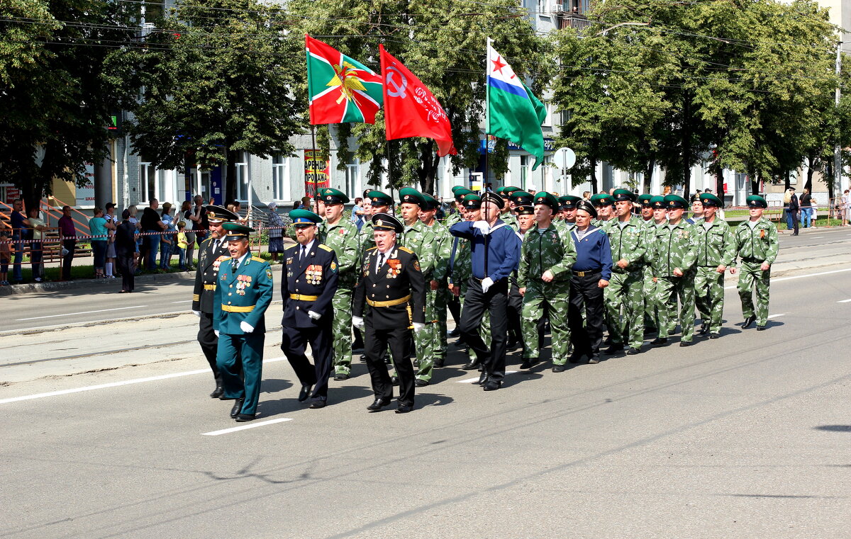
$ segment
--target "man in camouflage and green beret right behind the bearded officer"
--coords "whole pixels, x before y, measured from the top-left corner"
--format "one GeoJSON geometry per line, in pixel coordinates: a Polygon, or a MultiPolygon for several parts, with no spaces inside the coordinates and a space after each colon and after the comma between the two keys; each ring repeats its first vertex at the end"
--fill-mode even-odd
{"type": "Polygon", "coordinates": [[[319,241],[334,249],[337,255],[338,286],[331,304],[334,306],[332,335],[334,338],[334,380],[351,376],[351,292],[357,284],[357,255],[360,249],[357,226],[343,218],[349,197],[341,190],[322,190],[325,221],[320,227],[319,241]]]}

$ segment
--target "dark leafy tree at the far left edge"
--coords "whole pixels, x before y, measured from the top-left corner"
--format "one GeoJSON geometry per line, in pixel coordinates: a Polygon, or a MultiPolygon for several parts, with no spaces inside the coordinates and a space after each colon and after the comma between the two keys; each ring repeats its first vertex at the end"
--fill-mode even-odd
{"type": "Polygon", "coordinates": [[[54,179],[84,184],[107,154],[107,125],[122,88],[106,71],[128,39],[133,4],[8,0],[0,7],[0,173],[28,207],[54,179]]]}

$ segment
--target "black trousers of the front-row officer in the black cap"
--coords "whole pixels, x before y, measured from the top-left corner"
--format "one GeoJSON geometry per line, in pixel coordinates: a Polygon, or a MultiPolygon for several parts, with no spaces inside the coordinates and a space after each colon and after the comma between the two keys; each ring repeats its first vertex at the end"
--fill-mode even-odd
{"type": "Polygon", "coordinates": [[[414,406],[414,365],[411,363],[408,348],[411,330],[408,327],[375,329],[368,315],[364,323],[366,325],[364,351],[367,354],[367,369],[369,377],[372,378],[375,398],[393,398],[393,382],[384,362],[385,350],[390,345],[390,355],[393,365],[396,366],[396,375],[399,377],[399,404],[414,406]]]}

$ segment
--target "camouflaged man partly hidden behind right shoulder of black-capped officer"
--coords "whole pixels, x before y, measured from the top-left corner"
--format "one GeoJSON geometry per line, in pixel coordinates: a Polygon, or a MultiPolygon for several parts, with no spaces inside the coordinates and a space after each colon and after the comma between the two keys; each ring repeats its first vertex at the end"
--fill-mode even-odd
{"type": "Polygon", "coordinates": [[[433,333],[437,331],[437,315],[434,312],[434,297],[431,292],[431,281],[434,278],[434,264],[437,259],[437,238],[426,224],[420,221],[420,209],[426,206],[426,199],[420,191],[412,187],[399,190],[402,199],[401,213],[404,225],[401,241],[398,245],[407,247],[417,255],[420,261],[420,271],[426,279],[426,327],[421,332],[414,332],[414,349],[416,350],[417,372],[414,384],[424,387],[431,382],[431,372],[434,369],[433,333]]]}

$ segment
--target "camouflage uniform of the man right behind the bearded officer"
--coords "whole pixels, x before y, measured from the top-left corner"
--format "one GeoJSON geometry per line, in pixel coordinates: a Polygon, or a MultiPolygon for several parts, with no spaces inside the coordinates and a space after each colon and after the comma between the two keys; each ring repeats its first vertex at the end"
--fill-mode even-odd
{"type": "MultiPolygon", "coordinates": [[[[371,223],[370,223],[371,224],[371,223]]],[[[318,232],[319,241],[334,249],[337,255],[337,292],[331,304],[334,307],[334,374],[351,374],[351,293],[357,284],[357,261],[360,260],[357,226],[345,217],[337,224],[323,221],[318,232]]]]}

